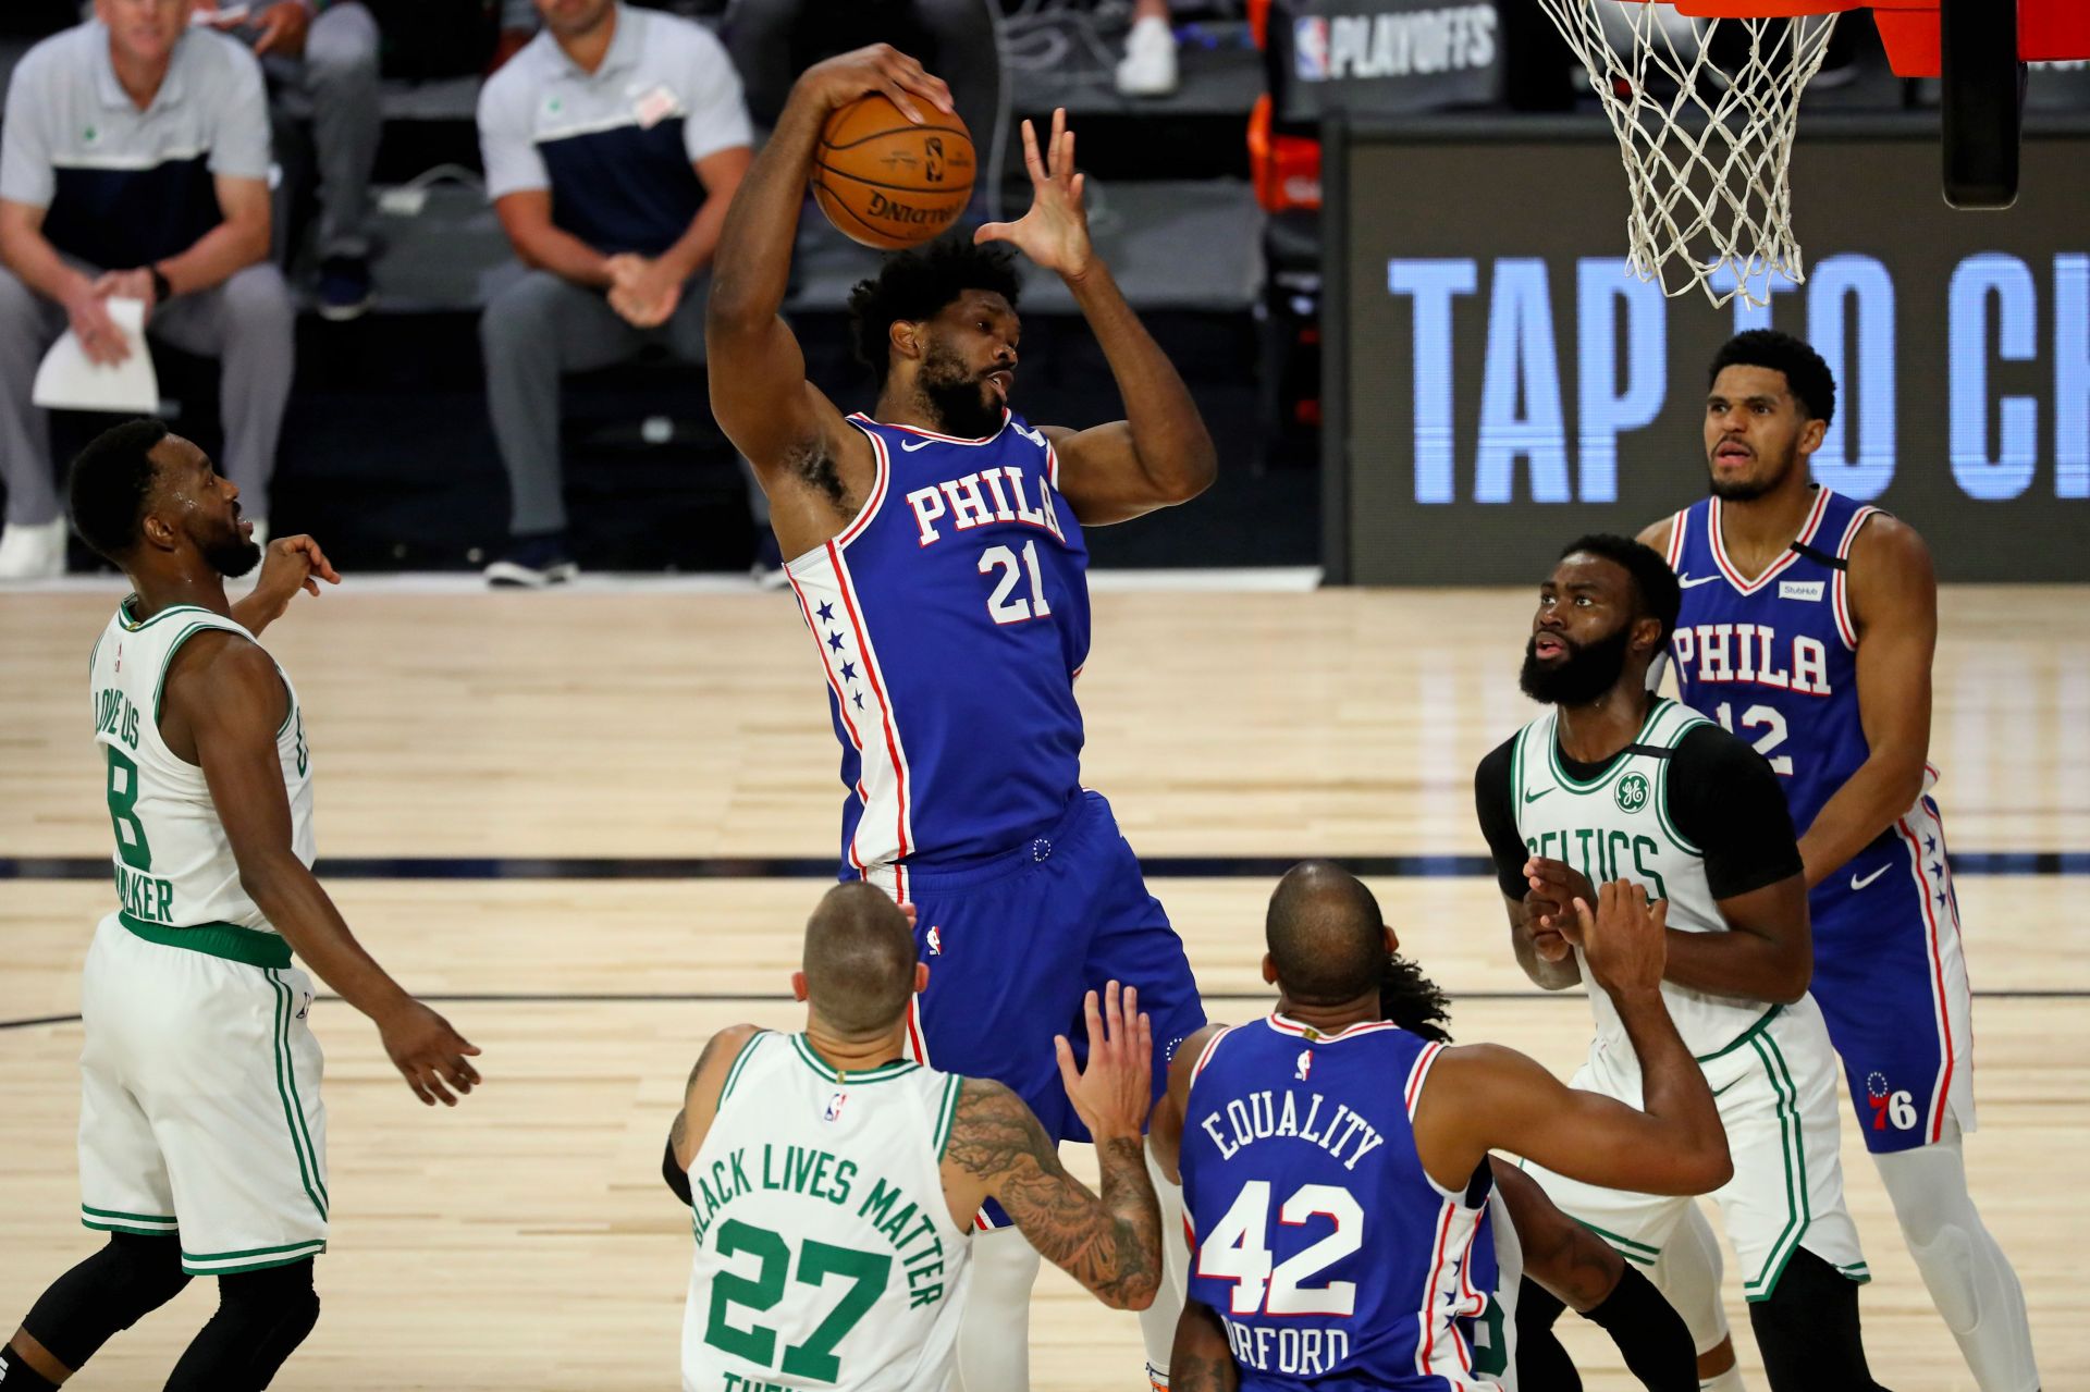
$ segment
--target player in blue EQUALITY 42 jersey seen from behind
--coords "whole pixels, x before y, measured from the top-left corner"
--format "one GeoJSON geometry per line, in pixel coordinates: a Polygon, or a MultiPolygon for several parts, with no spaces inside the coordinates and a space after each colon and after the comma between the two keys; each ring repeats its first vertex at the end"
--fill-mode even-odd
{"type": "MultiPolygon", "coordinates": [[[[1492,1147],[1657,1193],[1726,1183],[1712,1089],[1662,999],[1666,907],[1611,882],[1576,915],[1626,1020],[1645,1110],[1563,1087],[1511,1049],[1446,1047],[1386,1020],[1398,943],[1377,901],[1327,863],[1283,878],[1262,959],[1277,1010],[1208,1026],[1168,1078],[1191,1227],[1177,1390],[1505,1386],[1492,1147]]],[[[1695,1382],[1680,1329],[1676,1342],[1672,1363],[1695,1382]]]]}

